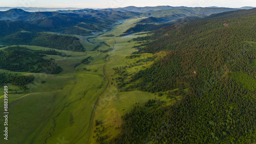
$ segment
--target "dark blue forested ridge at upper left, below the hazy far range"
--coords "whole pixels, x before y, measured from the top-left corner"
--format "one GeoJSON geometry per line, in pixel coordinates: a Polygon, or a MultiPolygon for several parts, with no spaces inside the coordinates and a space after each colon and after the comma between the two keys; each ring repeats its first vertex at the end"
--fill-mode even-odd
{"type": "MultiPolygon", "coordinates": [[[[59,32],[73,28],[80,23],[90,23],[95,26],[109,29],[115,20],[106,16],[104,18],[93,17],[92,15],[59,14],[56,12],[36,12],[23,16],[15,21],[1,20],[2,31],[27,30],[27,31],[53,31],[59,32]],[[103,20],[103,21],[102,21],[103,20]],[[5,26],[6,25],[6,26],[5,26]],[[8,28],[8,29],[7,29],[8,28]],[[29,30],[30,29],[30,30],[29,30]]],[[[82,31],[82,30],[81,30],[82,31]]]]}

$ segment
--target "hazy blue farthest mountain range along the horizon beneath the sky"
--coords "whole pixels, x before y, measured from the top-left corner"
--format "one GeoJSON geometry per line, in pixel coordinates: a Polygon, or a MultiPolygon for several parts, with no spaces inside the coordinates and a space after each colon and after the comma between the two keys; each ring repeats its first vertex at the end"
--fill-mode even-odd
{"type": "MultiPolygon", "coordinates": [[[[243,9],[248,9],[244,7],[243,9]]],[[[100,19],[126,19],[131,17],[164,17],[163,19],[173,20],[185,16],[208,16],[211,14],[234,11],[239,9],[233,8],[200,8],[200,7],[125,7],[115,9],[82,9],[82,10],[58,10],[47,12],[28,12],[23,9],[10,9],[0,11],[0,20],[37,20],[56,16],[68,16],[76,18],[100,18],[100,19]]]]}

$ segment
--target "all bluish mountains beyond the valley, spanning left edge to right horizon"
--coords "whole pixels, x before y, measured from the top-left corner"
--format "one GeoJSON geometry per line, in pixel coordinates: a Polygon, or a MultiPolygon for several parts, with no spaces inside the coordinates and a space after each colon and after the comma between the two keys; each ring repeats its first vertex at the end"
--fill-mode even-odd
{"type": "MultiPolygon", "coordinates": [[[[6,8],[6,7],[5,7],[6,8]]],[[[241,9],[249,9],[243,7],[241,9]]],[[[25,9],[25,8],[24,8],[25,9]]],[[[31,10],[30,8],[26,8],[31,10]]],[[[33,8],[36,10],[36,8],[33,8]]],[[[42,8],[44,9],[44,8],[42,8]]],[[[1,8],[0,8],[1,10],[1,8]]],[[[47,10],[47,9],[44,9],[47,10]]],[[[54,9],[51,9],[54,10],[54,9]]],[[[236,11],[233,8],[201,7],[125,7],[116,9],[59,9],[57,11],[29,12],[23,8],[0,11],[0,43],[11,44],[11,39],[39,36],[41,32],[55,32],[88,36],[95,32],[110,30],[120,20],[145,17],[135,29],[154,30],[154,23],[168,22],[180,18],[197,19],[212,14],[236,11]],[[144,25],[152,23],[153,25],[144,25]],[[146,27],[145,27],[146,26],[146,27]],[[24,33],[24,32],[32,32],[24,33]]],[[[135,30],[133,30],[135,31],[135,30]]],[[[16,40],[16,41],[17,41],[16,40]]],[[[24,43],[26,44],[26,43],[24,43]]]]}

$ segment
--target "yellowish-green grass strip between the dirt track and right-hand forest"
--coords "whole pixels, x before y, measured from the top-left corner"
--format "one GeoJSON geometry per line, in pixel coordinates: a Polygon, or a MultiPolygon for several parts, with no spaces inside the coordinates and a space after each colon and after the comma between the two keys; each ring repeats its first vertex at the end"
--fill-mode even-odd
{"type": "MultiPolygon", "coordinates": [[[[137,19],[131,19],[126,20],[122,23],[122,25],[116,26],[113,28],[112,31],[106,32],[104,35],[113,34],[113,35],[120,35],[122,32],[126,31],[125,29],[129,29],[130,27],[134,26],[134,22],[137,21],[137,19]]],[[[111,53],[110,61],[108,64],[106,64],[106,73],[108,73],[109,79],[118,77],[117,75],[114,75],[115,70],[113,68],[120,67],[120,66],[129,66],[129,63],[134,63],[139,59],[145,59],[147,57],[152,57],[153,54],[142,54],[139,58],[134,59],[127,59],[126,56],[130,56],[134,51],[137,51],[136,49],[132,48],[134,45],[134,42],[127,42],[131,40],[134,37],[137,37],[138,35],[128,35],[123,37],[99,37],[99,40],[103,40],[109,45],[114,45],[114,51],[111,53]],[[115,44],[116,41],[116,44],[115,44]],[[111,77],[111,75],[113,77],[111,77]]],[[[156,56],[159,57],[165,55],[164,53],[158,53],[156,56]]],[[[150,66],[153,61],[142,62],[143,65],[134,66],[131,68],[126,68],[126,71],[128,73],[136,73],[137,71],[144,69],[148,66],[150,66]]],[[[114,82],[114,81],[113,81],[114,82]]],[[[111,81],[110,81],[111,83],[111,81]]],[[[91,143],[95,143],[96,139],[96,133],[99,134],[99,136],[108,135],[108,140],[115,137],[118,133],[120,133],[119,127],[123,123],[121,116],[124,115],[127,112],[130,112],[130,110],[134,106],[144,106],[145,102],[148,101],[148,99],[155,99],[158,101],[158,99],[165,101],[166,105],[171,105],[174,103],[175,99],[166,99],[166,95],[162,95],[162,97],[158,97],[155,93],[150,92],[143,92],[139,90],[134,91],[126,91],[126,92],[120,92],[115,86],[109,85],[108,89],[105,90],[105,92],[101,95],[97,107],[97,114],[94,115],[94,121],[92,126],[92,134],[90,136],[91,143]],[[137,103],[137,105],[136,105],[137,103]],[[139,104],[138,104],[139,103],[139,104]],[[102,126],[99,125],[95,127],[95,119],[102,122],[102,126]],[[103,130],[103,127],[105,128],[103,130]],[[97,132],[94,133],[93,131],[96,130],[97,132]],[[101,132],[99,132],[101,130],[101,132]],[[103,131],[103,132],[102,132],[103,131]],[[93,138],[94,137],[94,138],[93,138]]],[[[177,96],[177,99],[180,97],[177,96]]]]}

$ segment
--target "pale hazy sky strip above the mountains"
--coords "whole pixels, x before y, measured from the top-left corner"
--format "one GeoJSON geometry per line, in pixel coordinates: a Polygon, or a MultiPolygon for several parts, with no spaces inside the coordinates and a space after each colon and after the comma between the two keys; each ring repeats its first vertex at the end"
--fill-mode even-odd
{"type": "Polygon", "coordinates": [[[256,7],[256,0],[0,0],[0,7],[118,8],[126,6],[256,7]]]}

